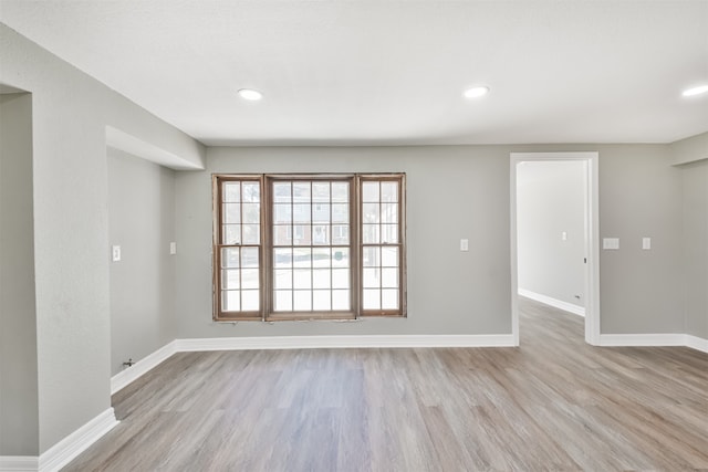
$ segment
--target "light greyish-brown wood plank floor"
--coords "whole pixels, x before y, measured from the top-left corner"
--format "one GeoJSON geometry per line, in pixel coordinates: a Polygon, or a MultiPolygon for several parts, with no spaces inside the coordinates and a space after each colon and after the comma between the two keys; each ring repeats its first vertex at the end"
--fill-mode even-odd
{"type": "Polygon", "coordinates": [[[708,470],[707,354],[520,303],[519,348],[177,354],[64,470],[708,470]]]}

